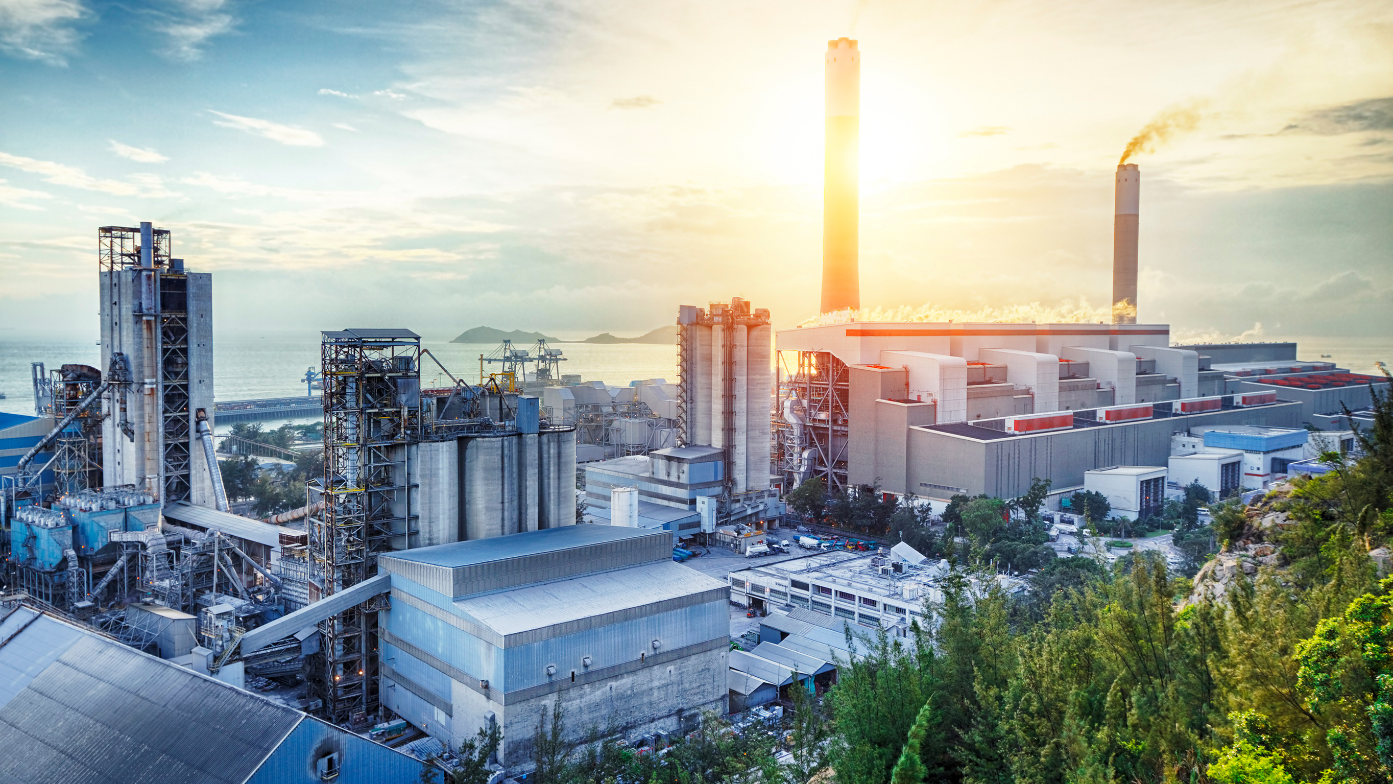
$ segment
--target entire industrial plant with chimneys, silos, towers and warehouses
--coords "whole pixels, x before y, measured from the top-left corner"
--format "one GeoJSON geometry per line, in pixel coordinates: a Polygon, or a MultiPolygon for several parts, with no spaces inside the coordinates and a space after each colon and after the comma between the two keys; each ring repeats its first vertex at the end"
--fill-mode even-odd
{"type": "Polygon", "coordinates": [[[582,383],[546,341],[506,341],[472,383],[411,329],[348,326],[319,333],[311,395],[220,408],[213,276],[167,228],[98,228],[100,366],[35,363],[35,416],[0,414],[0,742],[84,781],[224,765],[228,781],[403,781],[429,755],[387,735],[435,753],[492,727],[499,784],[532,769],[553,706],[568,748],[653,742],[825,689],[857,654],[848,629],[925,620],[954,567],[903,543],[722,578],[683,563],[770,551],[805,482],[942,512],[1043,479],[1046,510],[1095,490],[1139,519],[1187,485],[1319,472],[1321,437],[1347,448],[1385,379],[1138,320],[1137,164],[1113,182],[1112,323],[861,320],[859,72],[858,42],[827,42],[830,316],[776,329],[740,297],[674,304],[676,383],[582,383]],[[450,383],[426,386],[435,369],[450,383]],[[322,415],[304,505],[234,514],[220,412],[322,415]],[[775,611],[752,650],[731,650],[733,604],[775,611]],[[302,689],[273,702],[252,681],[302,689]]]}

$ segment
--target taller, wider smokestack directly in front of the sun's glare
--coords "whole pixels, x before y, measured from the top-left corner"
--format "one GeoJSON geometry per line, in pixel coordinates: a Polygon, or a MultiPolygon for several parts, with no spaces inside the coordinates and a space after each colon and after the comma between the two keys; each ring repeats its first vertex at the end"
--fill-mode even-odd
{"type": "Polygon", "coordinates": [[[861,306],[859,235],[861,52],[827,42],[826,150],[822,187],[822,309],[861,306]]]}

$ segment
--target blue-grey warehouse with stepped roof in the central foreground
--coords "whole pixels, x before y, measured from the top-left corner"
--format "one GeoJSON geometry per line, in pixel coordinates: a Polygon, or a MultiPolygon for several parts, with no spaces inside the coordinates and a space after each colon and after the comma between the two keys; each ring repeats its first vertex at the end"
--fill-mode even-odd
{"type": "Polygon", "coordinates": [[[570,525],[379,556],[383,705],[451,745],[497,723],[515,771],[556,700],[571,745],[724,713],[730,589],[671,547],[666,531],[570,525]]]}

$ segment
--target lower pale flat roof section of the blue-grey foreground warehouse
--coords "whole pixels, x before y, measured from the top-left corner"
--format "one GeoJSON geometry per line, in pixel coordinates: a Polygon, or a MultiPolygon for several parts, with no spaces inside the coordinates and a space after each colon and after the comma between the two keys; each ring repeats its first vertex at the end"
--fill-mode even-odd
{"type": "Polygon", "coordinates": [[[507,636],[729,586],[673,561],[461,599],[467,617],[507,636]]]}

